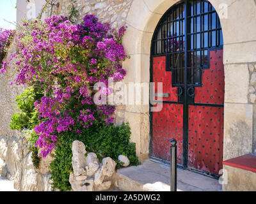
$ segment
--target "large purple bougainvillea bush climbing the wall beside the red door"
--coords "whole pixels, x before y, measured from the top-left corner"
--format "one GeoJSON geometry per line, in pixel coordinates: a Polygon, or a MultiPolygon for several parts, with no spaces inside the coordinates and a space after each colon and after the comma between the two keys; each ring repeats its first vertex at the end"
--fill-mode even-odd
{"type": "Polygon", "coordinates": [[[82,134],[95,122],[113,122],[114,106],[96,106],[92,87],[96,82],[116,82],[125,76],[120,62],[127,57],[122,46],[125,28],[118,31],[86,15],[74,25],[67,17],[52,16],[24,22],[17,32],[17,52],[3,63],[17,70],[15,84],[40,85],[44,96],[35,102],[39,122],[36,145],[43,157],[56,147],[60,133],[82,134]],[[74,127],[80,127],[79,129],[74,127]]]}

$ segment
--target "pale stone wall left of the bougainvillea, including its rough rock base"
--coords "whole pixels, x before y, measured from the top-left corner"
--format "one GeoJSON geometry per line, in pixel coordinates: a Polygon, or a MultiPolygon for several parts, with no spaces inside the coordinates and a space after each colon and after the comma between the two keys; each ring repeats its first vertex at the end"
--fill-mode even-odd
{"type": "MultiPolygon", "coordinates": [[[[15,51],[12,45],[6,60],[15,51]]],[[[15,80],[15,71],[7,69],[0,75],[0,175],[14,181],[15,189],[19,191],[51,191],[49,182],[49,162],[51,157],[41,159],[40,169],[33,166],[28,149],[28,140],[19,131],[9,128],[12,114],[18,112],[15,97],[19,96],[25,87],[9,85],[15,80]]]]}

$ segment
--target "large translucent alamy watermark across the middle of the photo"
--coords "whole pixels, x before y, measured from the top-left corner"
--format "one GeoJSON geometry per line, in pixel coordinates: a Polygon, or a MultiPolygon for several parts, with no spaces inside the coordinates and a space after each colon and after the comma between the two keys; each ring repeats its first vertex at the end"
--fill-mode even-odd
{"type": "Polygon", "coordinates": [[[93,86],[96,94],[93,101],[96,105],[152,105],[151,112],[163,108],[163,82],[142,82],[125,84],[108,79],[108,85],[98,82],[93,86]],[[157,94],[156,94],[157,91],[157,94]]]}

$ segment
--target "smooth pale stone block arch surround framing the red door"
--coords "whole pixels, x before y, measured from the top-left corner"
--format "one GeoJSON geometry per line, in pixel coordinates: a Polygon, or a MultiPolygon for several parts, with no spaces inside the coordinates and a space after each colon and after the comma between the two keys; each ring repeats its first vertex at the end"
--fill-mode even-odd
{"type": "MultiPolygon", "coordinates": [[[[131,56],[131,59],[123,63],[124,68],[127,69],[125,83],[149,82],[152,35],[163,14],[177,2],[179,0],[134,0],[132,2],[126,20],[127,32],[124,36],[125,51],[131,56]]],[[[254,15],[256,6],[253,0],[246,2],[209,0],[209,2],[214,6],[220,17],[223,31],[226,91],[223,158],[225,160],[252,152],[253,106],[252,101],[250,102],[248,99],[249,80],[252,73],[248,69],[248,63],[256,61],[256,29],[253,27],[256,24],[254,15]],[[234,110],[238,111],[234,113],[234,110]],[[248,128],[239,130],[237,133],[230,131],[230,128],[241,120],[246,121],[249,131],[248,128]],[[244,148],[238,152],[232,152],[231,149],[239,149],[238,147],[241,145],[241,140],[235,141],[234,139],[237,137],[233,135],[240,134],[243,131],[246,133],[247,141],[244,143],[244,148]]],[[[127,105],[122,112],[124,120],[130,123],[131,140],[136,142],[137,154],[141,161],[148,156],[148,110],[148,105],[127,105]],[[138,119],[138,122],[134,122],[134,117],[138,119]]],[[[241,139],[244,140],[244,138],[241,139]]]]}

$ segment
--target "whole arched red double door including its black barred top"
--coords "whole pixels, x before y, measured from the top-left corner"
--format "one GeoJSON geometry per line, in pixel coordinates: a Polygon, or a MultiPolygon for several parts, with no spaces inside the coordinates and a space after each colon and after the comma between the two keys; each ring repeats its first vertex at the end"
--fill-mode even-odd
{"type": "Polygon", "coordinates": [[[218,176],[225,79],[221,24],[211,3],[184,0],[166,11],[150,58],[150,82],[163,82],[163,109],[150,117],[150,157],[170,161],[175,138],[180,166],[218,176]]]}

